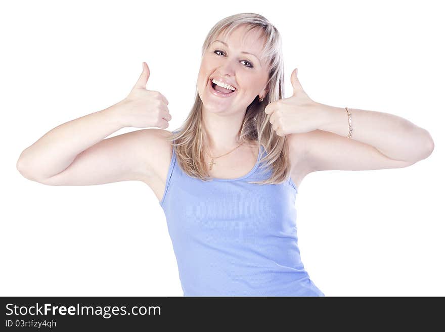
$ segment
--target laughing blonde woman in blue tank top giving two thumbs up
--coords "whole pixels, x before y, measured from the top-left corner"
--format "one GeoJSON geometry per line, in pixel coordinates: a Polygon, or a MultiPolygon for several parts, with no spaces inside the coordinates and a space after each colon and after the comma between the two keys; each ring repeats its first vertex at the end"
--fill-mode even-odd
{"type": "Polygon", "coordinates": [[[165,130],[168,101],[146,89],[143,63],[124,100],[52,129],[17,168],[48,185],[147,183],[165,212],[185,296],[324,296],[297,246],[304,176],[406,167],[434,144],[400,117],[314,102],[296,70],[284,99],[283,68],[268,20],[227,17],[204,41],[195,103],[179,130],[165,130]],[[123,127],[160,129],[104,139],[123,127]]]}

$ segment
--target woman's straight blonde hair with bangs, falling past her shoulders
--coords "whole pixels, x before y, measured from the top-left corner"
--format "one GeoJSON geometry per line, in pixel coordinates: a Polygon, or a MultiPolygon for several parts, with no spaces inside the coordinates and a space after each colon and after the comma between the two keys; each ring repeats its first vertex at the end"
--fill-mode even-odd
{"type": "MultiPolygon", "coordinates": [[[[258,97],[247,107],[241,128],[239,141],[256,142],[257,148],[264,147],[266,156],[261,156],[262,167],[272,170],[270,178],[263,181],[252,181],[256,184],[277,184],[290,176],[289,148],[286,137],[278,136],[269,122],[270,115],[264,108],[271,102],[284,98],[284,64],[281,36],[277,28],[265,17],[254,13],[241,13],[226,17],[217,22],[207,34],[202,45],[202,56],[211,42],[219,34],[230,35],[239,26],[247,26],[248,31],[261,29],[265,39],[261,62],[267,64],[269,80],[266,84],[266,95],[259,102],[258,97]]],[[[211,180],[204,160],[206,133],[202,127],[202,101],[196,90],[195,103],[183,125],[174,130],[167,139],[175,147],[177,163],[189,176],[203,181],[211,180]]]]}

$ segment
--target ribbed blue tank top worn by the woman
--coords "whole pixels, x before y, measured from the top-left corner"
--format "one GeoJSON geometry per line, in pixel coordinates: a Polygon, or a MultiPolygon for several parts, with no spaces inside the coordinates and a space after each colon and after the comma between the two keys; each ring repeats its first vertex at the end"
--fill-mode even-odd
{"type": "Polygon", "coordinates": [[[203,181],[184,173],[175,147],[159,203],[184,296],[325,296],[310,280],[297,246],[292,179],[255,166],[235,179],[203,181]]]}

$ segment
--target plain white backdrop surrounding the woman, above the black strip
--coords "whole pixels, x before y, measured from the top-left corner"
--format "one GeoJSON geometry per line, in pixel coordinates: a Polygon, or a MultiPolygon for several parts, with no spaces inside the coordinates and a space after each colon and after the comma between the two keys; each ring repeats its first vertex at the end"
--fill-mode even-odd
{"type": "Polygon", "coordinates": [[[179,127],[206,34],[224,17],[253,12],[283,37],[286,98],[297,67],[311,99],[398,115],[435,143],[407,168],[305,177],[297,227],[311,279],[327,296],[445,296],[439,4],[2,3],[0,295],[183,295],[165,216],[146,184],[48,186],[24,178],[16,162],[52,128],[126,97],[143,61],[147,88],[169,101],[167,129],[179,127]]]}

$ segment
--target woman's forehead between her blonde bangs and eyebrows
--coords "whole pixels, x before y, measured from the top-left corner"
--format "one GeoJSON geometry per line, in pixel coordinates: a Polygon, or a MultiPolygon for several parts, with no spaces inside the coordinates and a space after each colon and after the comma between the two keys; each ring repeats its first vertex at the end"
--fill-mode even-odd
{"type": "Polygon", "coordinates": [[[261,54],[264,49],[264,36],[260,29],[254,28],[247,31],[245,26],[238,26],[229,35],[227,31],[220,32],[213,40],[222,40],[229,44],[231,48],[239,49],[246,52],[261,54]]]}

